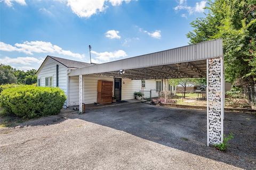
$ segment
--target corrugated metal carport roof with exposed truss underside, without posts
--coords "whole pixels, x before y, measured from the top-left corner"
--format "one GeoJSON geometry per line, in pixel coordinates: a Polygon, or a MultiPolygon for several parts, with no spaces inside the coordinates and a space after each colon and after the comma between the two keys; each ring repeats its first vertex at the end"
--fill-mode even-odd
{"type": "Polygon", "coordinates": [[[223,56],[222,39],[71,70],[69,76],[108,75],[130,79],[206,77],[206,59],[223,56]],[[119,70],[125,70],[119,74],[119,70]]]}

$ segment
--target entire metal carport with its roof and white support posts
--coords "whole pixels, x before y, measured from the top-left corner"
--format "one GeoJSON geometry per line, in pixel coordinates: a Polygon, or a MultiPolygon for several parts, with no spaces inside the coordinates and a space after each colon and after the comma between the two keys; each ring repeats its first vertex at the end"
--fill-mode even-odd
{"type": "Polygon", "coordinates": [[[83,75],[91,74],[132,80],[207,77],[207,145],[222,142],[225,81],[221,39],[71,70],[70,77],[79,75],[81,112],[83,75]]]}

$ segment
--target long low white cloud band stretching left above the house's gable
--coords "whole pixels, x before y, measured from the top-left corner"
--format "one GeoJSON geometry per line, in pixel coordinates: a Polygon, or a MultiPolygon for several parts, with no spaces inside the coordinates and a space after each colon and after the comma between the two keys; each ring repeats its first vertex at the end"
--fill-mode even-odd
{"type": "Polygon", "coordinates": [[[71,56],[75,58],[84,58],[84,54],[73,53],[70,50],[63,50],[57,45],[45,41],[25,41],[22,44],[16,43],[15,46],[0,42],[0,50],[7,52],[22,52],[32,55],[33,53],[51,53],[71,56]]]}

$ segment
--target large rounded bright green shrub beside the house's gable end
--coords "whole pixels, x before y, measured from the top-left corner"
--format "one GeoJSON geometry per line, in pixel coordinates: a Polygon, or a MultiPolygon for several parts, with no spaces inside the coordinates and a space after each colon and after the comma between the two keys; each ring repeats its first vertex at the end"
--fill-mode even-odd
{"type": "Polygon", "coordinates": [[[1,106],[22,118],[56,115],[65,100],[66,95],[59,88],[31,85],[5,89],[0,95],[1,106]]]}

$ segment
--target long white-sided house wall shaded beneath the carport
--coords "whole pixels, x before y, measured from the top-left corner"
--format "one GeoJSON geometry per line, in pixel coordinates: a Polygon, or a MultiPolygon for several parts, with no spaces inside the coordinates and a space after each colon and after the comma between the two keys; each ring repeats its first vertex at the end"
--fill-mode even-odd
{"type": "MultiPolygon", "coordinates": [[[[78,84],[78,76],[69,77],[69,103],[68,106],[75,106],[79,104],[79,84],[78,84]]],[[[113,77],[98,77],[93,75],[85,75],[83,77],[83,86],[84,86],[84,100],[85,104],[92,104],[97,102],[97,86],[98,80],[105,81],[114,81],[113,77]]],[[[162,80],[158,80],[162,81],[162,80]]],[[[156,80],[146,80],[145,98],[150,97],[158,97],[158,91],[156,91],[156,80]]],[[[113,83],[114,84],[114,83],[113,83]]],[[[167,80],[164,82],[163,80],[163,90],[168,90],[168,82],[167,80]],[[166,84],[166,85],[165,85],[166,84]]],[[[141,80],[131,80],[122,78],[122,100],[128,100],[134,98],[134,91],[141,91],[141,80]]],[[[113,96],[114,96],[114,86],[113,86],[113,96]]]]}

